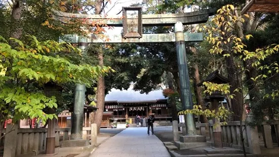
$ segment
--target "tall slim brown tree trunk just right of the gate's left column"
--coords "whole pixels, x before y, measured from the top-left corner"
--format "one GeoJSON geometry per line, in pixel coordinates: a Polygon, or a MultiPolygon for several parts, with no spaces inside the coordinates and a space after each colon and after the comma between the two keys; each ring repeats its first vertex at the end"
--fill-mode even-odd
{"type": "MultiPolygon", "coordinates": [[[[96,13],[99,14],[102,9],[102,2],[101,0],[98,0],[96,3],[96,13]]],[[[103,66],[103,52],[100,49],[99,51],[99,66],[103,66]]],[[[100,127],[103,119],[103,112],[104,112],[104,106],[105,106],[105,78],[103,76],[99,77],[98,84],[97,84],[97,104],[96,107],[98,108],[95,112],[94,116],[94,123],[97,124],[98,127],[98,133],[100,133],[100,127]]]]}

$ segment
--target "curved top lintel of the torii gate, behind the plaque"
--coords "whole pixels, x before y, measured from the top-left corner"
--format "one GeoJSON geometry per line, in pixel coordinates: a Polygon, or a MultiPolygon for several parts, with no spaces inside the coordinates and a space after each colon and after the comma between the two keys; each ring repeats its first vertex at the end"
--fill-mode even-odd
{"type": "MultiPolygon", "coordinates": [[[[104,23],[108,26],[122,27],[123,21],[117,16],[107,16],[105,18],[100,15],[87,15],[87,14],[72,14],[61,11],[54,11],[55,18],[60,21],[67,21],[72,18],[80,18],[87,20],[104,20],[104,23]]],[[[174,26],[174,24],[180,21],[183,25],[198,24],[207,22],[209,16],[214,14],[214,10],[200,10],[190,13],[180,14],[143,14],[142,15],[142,26],[174,26]]]]}

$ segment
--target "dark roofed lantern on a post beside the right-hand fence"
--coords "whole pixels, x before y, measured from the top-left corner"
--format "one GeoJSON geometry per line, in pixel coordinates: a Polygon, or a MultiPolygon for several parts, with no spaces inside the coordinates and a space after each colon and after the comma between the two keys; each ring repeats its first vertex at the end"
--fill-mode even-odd
{"type": "MultiPolygon", "coordinates": [[[[216,70],[209,74],[204,81],[201,83],[197,84],[197,86],[202,86],[204,82],[211,82],[215,84],[227,84],[229,82],[228,78],[222,76],[219,74],[219,70],[216,70]]],[[[206,87],[205,87],[206,88],[206,87]]],[[[215,113],[218,112],[219,108],[219,102],[224,101],[225,96],[222,95],[220,91],[215,91],[211,95],[207,94],[205,97],[205,101],[211,103],[211,109],[215,109],[215,113]]],[[[220,123],[218,119],[214,118],[213,119],[213,124],[218,124],[220,123]]],[[[221,135],[221,126],[217,125],[216,128],[213,127],[213,139],[214,139],[214,147],[215,148],[222,148],[223,143],[222,143],[222,135],[221,135]]]]}

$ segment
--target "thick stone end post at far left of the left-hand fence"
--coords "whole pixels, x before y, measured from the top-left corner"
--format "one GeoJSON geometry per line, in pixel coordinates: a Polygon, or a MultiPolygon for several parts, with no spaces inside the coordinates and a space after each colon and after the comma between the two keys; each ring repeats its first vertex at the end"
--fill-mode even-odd
{"type": "Polygon", "coordinates": [[[17,137],[17,130],[18,130],[18,124],[7,124],[6,133],[10,131],[11,132],[5,136],[5,144],[4,144],[5,157],[16,156],[17,138],[15,137],[17,137]]]}

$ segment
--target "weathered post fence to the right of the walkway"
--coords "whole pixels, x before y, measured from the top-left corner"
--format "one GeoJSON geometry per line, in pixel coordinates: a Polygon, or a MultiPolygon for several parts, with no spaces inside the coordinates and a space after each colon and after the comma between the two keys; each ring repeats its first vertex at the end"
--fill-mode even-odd
{"type": "MultiPolygon", "coordinates": [[[[251,118],[251,117],[250,117],[251,118]]],[[[271,135],[271,125],[275,127],[276,134],[276,145],[279,146],[279,121],[275,121],[272,124],[262,123],[260,128],[240,125],[239,121],[236,122],[228,122],[227,125],[222,125],[222,141],[223,145],[227,147],[233,147],[242,150],[242,142],[241,142],[241,129],[243,130],[244,136],[244,146],[247,152],[252,154],[261,154],[261,146],[259,141],[259,133],[258,129],[261,130],[263,136],[263,147],[273,148],[274,143],[272,142],[271,135]]],[[[209,140],[211,142],[214,141],[213,136],[213,124],[212,121],[208,124],[196,123],[196,126],[200,128],[200,134],[206,136],[206,127],[208,126],[209,130],[209,140]]],[[[179,132],[178,127],[182,127],[182,134],[186,135],[185,124],[177,124],[177,121],[173,121],[173,134],[174,141],[179,141],[179,132]]]]}

